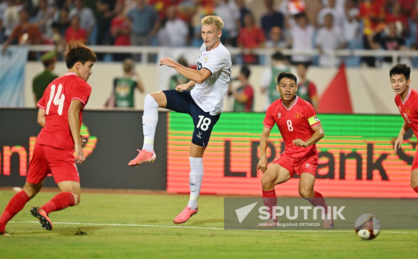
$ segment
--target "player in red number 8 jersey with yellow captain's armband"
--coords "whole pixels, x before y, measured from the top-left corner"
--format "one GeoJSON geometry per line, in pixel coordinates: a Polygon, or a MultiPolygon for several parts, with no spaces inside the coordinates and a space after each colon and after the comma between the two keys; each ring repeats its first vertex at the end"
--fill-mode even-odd
{"type": "Polygon", "coordinates": [[[260,139],[260,161],[257,168],[263,171],[261,185],[263,200],[269,208],[269,223],[277,223],[273,218],[272,207],[277,204],[275,185],[288,181],[294,174],[300,176],[299,194],[314,206],[324,208],[324,228],[333,228],[332,212],[328,211],[324,197],[314,191],[318,151],[315,143],[324,137],[321,121],[310,103],[296,95],[298,86],[296,76],[282,72],[277,77],[276,89],[280,99],[275,100],[267,109],[263,121],[264,128],[260,139]],[[277,124],[285,150],[267,166],[266,149],[270,131],[277,124]]]}

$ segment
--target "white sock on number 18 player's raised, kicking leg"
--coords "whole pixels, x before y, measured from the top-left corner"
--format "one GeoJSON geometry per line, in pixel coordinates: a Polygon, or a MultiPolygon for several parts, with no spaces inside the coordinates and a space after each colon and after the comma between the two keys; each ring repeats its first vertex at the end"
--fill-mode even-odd
{"type": "Polygon", "coordinates": [[[142,149],[150,152],[154,150],[155,129],[158,122],[158,103],[151,95],[146,95],[144,100],[144,115],[142,116],[142,128],[144,132],[144,145],[142,149]]]}

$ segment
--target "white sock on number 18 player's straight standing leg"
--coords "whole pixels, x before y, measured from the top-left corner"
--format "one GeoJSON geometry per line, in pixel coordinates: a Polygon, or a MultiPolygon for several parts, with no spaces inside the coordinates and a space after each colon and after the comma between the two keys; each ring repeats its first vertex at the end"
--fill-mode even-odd
{"type": "Polygon", "coordinates": [[[203,159],[199,157],[190,157],[190,200],[187,206],[192,210],[197,208],[197,199],[199,198],[200,187],[203,180],[203,159]]]}

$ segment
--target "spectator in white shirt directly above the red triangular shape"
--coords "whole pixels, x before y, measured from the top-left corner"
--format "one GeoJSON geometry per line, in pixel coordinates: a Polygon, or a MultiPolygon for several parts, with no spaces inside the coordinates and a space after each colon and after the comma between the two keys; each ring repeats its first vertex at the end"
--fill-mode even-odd
{"type": "Polygon", "coordinates": [[[324,20],[324,27],[318,30],[316,46],[319,53],[321,53],[321,56],[319,56],[319,65],[329,67],[339,63],[339,59],[336,58],[334,63],[329,55],[324,54],[324,51],[344,48],[345,39],[341,28],[333,25],[333,16],[330,13],[325,15],[324,20]]]}

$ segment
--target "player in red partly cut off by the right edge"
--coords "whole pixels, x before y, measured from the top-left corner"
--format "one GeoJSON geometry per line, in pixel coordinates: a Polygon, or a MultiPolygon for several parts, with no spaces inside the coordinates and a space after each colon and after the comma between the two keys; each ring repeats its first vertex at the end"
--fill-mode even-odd
{"type": "MultiPolygon", "coordinates": [[[[403,135],[405,135],[409,128],[412,129],[418,138],[418,91],[409,88],[411,83],[411,79],[409,78],[410,73],[411,68],[405,64],[397,64],[389,72],[390,84],[396,93],[395,103],[404,120],[398,138],[395,141],[395,153],[398,153],[398,149],[400,149],[403,142],[403,135]]],[[[418,193],[418,152],[415,153],[412,162],[411,187],[418,193]]]]}

